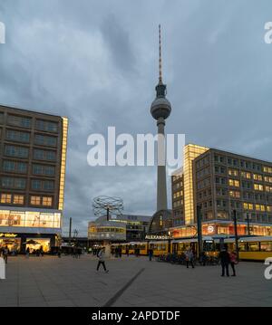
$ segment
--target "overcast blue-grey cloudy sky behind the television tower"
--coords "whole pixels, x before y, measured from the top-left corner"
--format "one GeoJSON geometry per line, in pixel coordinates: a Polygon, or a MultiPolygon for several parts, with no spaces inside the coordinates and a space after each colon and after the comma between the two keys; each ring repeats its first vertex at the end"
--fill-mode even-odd
{"type": "Polygon", "coordinates": [[[73,217],[86,234],[99,195],[121,196],[127,213],[155,212],[155,167],[86,158],[88,136],[108,126],[156,132],[158,24],[167,132],[272,161],[269,21],[271,0],[0,0],[0,103],[70,119],[64,230],[73,217]]]}

